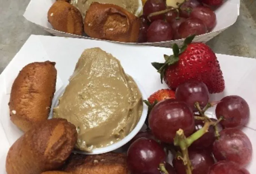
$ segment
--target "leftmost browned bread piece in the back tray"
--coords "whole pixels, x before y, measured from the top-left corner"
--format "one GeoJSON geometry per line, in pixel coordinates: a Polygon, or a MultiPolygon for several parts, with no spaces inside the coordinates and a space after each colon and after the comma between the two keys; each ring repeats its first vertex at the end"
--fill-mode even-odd
{"type": "Polygon", "coordinates": [[[64,0],[52,4],[48,11],[48,21],[56,30],[77,35],[83,33],[83,18],[80,11],[64,0]]]}

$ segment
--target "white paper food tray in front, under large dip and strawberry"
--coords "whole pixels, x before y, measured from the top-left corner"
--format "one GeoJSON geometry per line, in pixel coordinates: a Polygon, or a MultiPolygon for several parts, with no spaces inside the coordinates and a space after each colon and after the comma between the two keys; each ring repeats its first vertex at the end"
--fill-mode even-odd
{"type": "MultiPolygon", "coordinates": [[[[0,74],[0,173],[5,172],[5,158],[9,147],[17,140],[22,132],[10,121],[9,97],[10,88],[18,72],[28,63],[50,60],[56,62],[58,71],[57,89],[68,82],[73,73],[77,60],[84,49],[100,47],[118,58],[125,72],[134,77],[143,86],[147,96],[153,92],[167,88],[160,83],[160,77],[151,62],[164,61],[164,54],[171,54],[168,48],[152,46],[135,46],[110,43],[106,41],[87,40],[79,38],[50,37],[31,35],[21,50],[0,74]]],[[[239,95],[250,106],[250,122],[243,129],[256,148],[256,60],[250,58],[217,54],[225,78],[225,91],[211,95],[211,101],[222,99],[227,95],[239,95]]],[[[214,115],[214,108],[209,110],[214,115]]],[[[256,173],[256,150],[253,160],[247,167],[251,174],[256,173]]]]}

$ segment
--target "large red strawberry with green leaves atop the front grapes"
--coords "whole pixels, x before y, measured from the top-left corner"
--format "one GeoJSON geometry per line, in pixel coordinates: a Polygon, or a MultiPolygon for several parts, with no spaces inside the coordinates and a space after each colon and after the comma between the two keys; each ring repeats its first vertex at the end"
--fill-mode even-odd
{"type": "Polygon", "coordinates": [[[191,43],[194,37],[186,38],[181,49],[174,44],[174,55],[164,55],[165,63],[153,62],[152,65],[161,74],[161,82],[164,78],[173,90],[193,79],[204,82],[210,93],[220,93],[225,84],[216,55],[204,43],[191,43]]]}

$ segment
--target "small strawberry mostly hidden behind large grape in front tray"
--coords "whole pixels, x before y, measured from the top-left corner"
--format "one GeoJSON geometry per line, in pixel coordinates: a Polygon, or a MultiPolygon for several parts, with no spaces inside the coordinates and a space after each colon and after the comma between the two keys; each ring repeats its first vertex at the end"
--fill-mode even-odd
{"type": "Polygon", "coordinates": [[[165,99],[175,99],[175,91],[170,89],[161,89],[149,96],[147,100],[151,105],[153,105],[155,101],[160,102],[165,99]]]}

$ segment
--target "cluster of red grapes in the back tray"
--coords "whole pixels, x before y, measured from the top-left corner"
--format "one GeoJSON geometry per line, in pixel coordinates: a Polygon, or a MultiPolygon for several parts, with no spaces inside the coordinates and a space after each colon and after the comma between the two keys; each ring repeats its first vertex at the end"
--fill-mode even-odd
{"type": "Polygon", "coordinates": [[[200,0],[185,0],[179,8],[173,10],[169,10],[165,4],[165,0],[146,1],[140,17],[139,43],[201,35],[211,31],[216,25],[214,11],[204,6],[200,0]],[[155,15],[152,16],[153,13],[155,15]]]}

